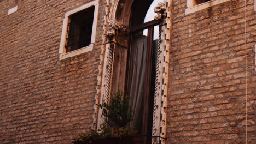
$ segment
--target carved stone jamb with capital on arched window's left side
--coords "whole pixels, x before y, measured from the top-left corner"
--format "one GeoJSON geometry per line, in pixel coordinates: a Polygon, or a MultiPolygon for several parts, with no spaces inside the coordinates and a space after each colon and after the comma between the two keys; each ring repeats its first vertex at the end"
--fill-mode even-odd
{"type": "Polygon", "coordinates": [[[98,85],[97,85],[97,94],[96,94],[96,105],[94,113],[94,123],[92,124],[93,129],[100,128],[100,125],[103,124],[102,119],[102,110],[99,109],[99,103],[105,101],[109,103],[110,99],[110,88],[112,80],[112,71],[113,71],[113,58],[114,58],[114,47],[115,41],[114,38],[120,34],[126,35],[129,32],[129,28],[121,22],[115,20],[108,21],[110,16],[110,1],[107,0],[106,15],[104,17],[105,23],[103,27],[104,35],[102,37],[102,54],[101,54],[101,65],[99,68],[98,76],[98,85]],[[104,56],[104,57],[103,57],[104,56]],[[102,74],[102,75],[101,75],[102,74]]]}

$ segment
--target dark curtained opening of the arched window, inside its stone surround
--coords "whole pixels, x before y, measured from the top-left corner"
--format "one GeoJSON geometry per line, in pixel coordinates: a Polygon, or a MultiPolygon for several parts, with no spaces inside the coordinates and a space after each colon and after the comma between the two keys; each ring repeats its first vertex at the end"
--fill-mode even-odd
{"type": "Polygon", "coordinates": [[[162,1],[135,1],[131,11],[125,87],[133,110],[131,128],[139,130],[145,136],[146,143],[150,143],[152,137],[159,35],[159,21],[154,20],[154,7],[159,2],[162,1]]]}

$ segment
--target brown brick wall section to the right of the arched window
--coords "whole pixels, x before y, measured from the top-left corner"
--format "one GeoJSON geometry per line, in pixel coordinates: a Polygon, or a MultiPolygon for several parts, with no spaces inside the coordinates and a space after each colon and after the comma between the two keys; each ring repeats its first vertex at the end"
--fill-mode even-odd
{"type": "MultiPolygon", "coordinates": [[[[185,15],[172,1],[167,143],[246,143],[245,1],[185,15]]],[[[247,123],[254,143],[255,11],[247,0],[247,123]]]]}

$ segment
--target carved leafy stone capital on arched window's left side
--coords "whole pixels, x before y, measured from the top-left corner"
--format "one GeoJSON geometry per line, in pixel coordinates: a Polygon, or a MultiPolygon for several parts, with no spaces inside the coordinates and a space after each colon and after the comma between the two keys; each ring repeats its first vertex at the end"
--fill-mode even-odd
{"type": "Polygon", "coordinates": [[[121,22],[117,22],[117,21],[108,22],[108,30],[106,32],[108,41],[113,40],[113,38],[116,37],[118,34],[127,34],[129,31],[128,29],[129,28],[121,22]]]}

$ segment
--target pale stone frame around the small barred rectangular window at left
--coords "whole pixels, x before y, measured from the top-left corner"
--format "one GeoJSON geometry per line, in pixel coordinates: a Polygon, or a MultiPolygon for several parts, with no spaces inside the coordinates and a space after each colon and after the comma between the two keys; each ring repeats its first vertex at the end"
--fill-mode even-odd
{"type": "Polygon", "coordinates": [[[60,50],[59,50],[59,57],[60,61],[69,57],[77,56],[85,52],[92,51],[95,45],[96,40],[96,25],[97,25],[97,19],[98,19],[98,0],[92,1],[89,3],[86,3],[78,8],[75,8],[71,11],[68,11],[65,14],[65,18],[63,20],[63,26],[62,26],[62,32],[61,32],[61,41],[60,41],[60,50]],[[66,52],[65,44],[66,44],[66,38],[67,38],[67,28],[68,23],[70,21],[70,16],[72,14],[78,13],[79,11],[82,11],[86,8],[90,8],[94,6],[94,21],[92,23],[92,32],[91,32],[91,44],[89,46],[82,47],[78,50],[74,50],[71,52],[66,52]]]}

